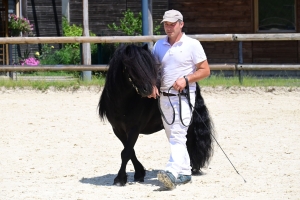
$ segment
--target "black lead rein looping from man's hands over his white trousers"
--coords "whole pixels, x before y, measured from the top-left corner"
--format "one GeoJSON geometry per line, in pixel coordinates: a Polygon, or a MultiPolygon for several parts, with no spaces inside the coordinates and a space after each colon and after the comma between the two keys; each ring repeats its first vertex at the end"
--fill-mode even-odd
{"type": "MultiPolygon", "coordinates": [[[[181,106],[181,96],[182,96],[182,95],[184,95],[184,96],[186,97],[186,99],[187,99],[187,101],[188,101],[188,104],[189,104],[190,111],[191,111],[191,112],[193,111],[193,109],[192,109],[192,104],[191,104],[191,98],[190,98],[189,81],[188,81],[188,79],[186,78],[186,76],[184,76],[184,79],[185,79],[185,82],[186,82],[186,87],[185,87],[184,90],[186,90],[186,92],[185,92],[185,93],[180,93],[180,92],[178,92],[178,94],[177,94],[177,96],[178,96],[178,98],[179,98],[179,112],[180,112],[179,117],[180,117],[180,121],[181,121],[182,125],[185,126],[185,127],[189,127],[189,126],[192,124],[192,122],[193,122],[193,118],[191,118],[191,121],[190,121],[189,125],[185,125],[184,122],[183,122],[183,120],[182,120],[182,106],[181,106]]],[[[172,87],[173,87],[173,86],[171,86],[171,87],[168,89],[168,93],[170,92],[170,90],[171,90],[172,87]]],[[[173,118],[172,118],[172,122],[171,122],[171,123],[168,122],[168,120],[166,119],[164,113],[163,113],[162,110],[161,110],[161,107],[160,107],[160,97],[159,97],[159,96],[158,96],[158,109],[159,109],[159,111],[160,111],[160,113],[161,113],[161,116],[162,116],[162,118],[164,119],[164,121],[165,121],[168,125],[172,125],[172,124],[174,124],[174,121],[175,121],[175,109],[174,109],[174,106],[173,106],[173,104],[172,104],[172,102],[171,102],[169,96],[168,96],[168,99],[169,99],[170,105],[171,105],[172,110],[173,110],[173,118]]]]}

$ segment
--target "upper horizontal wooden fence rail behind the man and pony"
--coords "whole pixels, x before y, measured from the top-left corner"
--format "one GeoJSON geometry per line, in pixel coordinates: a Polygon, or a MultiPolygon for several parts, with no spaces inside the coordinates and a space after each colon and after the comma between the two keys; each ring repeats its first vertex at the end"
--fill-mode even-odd
{"type": "MultiPolygon", "coordinates": [[[[221,41],[277,41],[300,40],[300,33],[280,34],[199,34],[189,35],[206,42],[221,41]]],[[[120,43],[120,42],[156,42],[164,35],[152,36],[90,36],[90,37],[0,37],[0,44],[55,44],[55,43],[120,43]]]]}

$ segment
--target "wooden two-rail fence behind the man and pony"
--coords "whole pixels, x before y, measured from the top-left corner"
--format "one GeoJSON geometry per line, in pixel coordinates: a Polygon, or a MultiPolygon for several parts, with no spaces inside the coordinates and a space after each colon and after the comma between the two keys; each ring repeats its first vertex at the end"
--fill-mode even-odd
{"type": "MultiPolygon", "coordinates": [[[[238,71],[240,81],[243,78],[243,70],[300,70],[299,64],[244,64],[242,45],[243,41],[283,41],[300,40],[300,33],[283,34],[210,34],[189,35],[200,41],[236,41],[239,42],[238,63],[210,64],[211,70],[238,71]]],[[[97,37],[4,37],[0,38],[0,44],[44,44],[44,43],[136,43],[156,42],[165,36],[97,36],[97,37]]],[[[35,67],[16,67],[0,65],[0,72],[12,71],[106,71],[107,65],[43,65],[35,67]]]]}

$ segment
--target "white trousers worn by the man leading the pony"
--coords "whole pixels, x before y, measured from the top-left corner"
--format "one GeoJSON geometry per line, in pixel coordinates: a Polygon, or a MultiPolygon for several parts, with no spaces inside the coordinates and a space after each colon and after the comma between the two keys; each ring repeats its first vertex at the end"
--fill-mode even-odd
{"type": "MultiPolygon", "coordinates": [[[[191,104],[194,106],[195,92],[190,93],[190,99],[191,104]]],[[[179,106],[179,97],[170,96],[170,100],[175,110],[175,121],[173,124],[168,125],[164,121],[164,119],[162,119],[166,135],[171,147],[170,158],[165,170],[171,172],[175,177],[177,177],[178,174],[191,175],[190,157],[186,148],[186,134],[188,127],[185,127],[182,124],[180,120],[180,115],[182,116],[183,123],[186,126],[188,126],[191,121],[192,112],[190,110],[186,97],[181,96],[181,113],[179,106]]],[[[161,94],[160,107],[168,123],[172,122],[174,115],[172,106],[170,105],[169,97],[163,96],[161,94]]]]}

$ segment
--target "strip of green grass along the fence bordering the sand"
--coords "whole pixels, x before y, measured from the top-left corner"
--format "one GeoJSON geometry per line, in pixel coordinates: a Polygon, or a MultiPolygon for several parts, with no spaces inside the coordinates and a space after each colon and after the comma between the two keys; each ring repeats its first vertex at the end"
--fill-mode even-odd
{"type": "MultiPolygon", "coordinates": [[[[56,76],[52,74],[52,76],[56,76]]],[[[62,89],[72,89],[76,90],[79,87],[91,87],[91,86],[103,86],[105,83],[105,78],[103,76],[92,77],[91,81],[82,81],[80,78],[71,81],[30,81],[30,80],[8,80],[8,79],[0,79],[0,87],[4,88],[33,88],[37,90],[47,90],[50,87],[54,87],[58,90],[62,89]]],[[[225,77],[225,76],[217,76],[212,75],[209,78],[206,78],[200,81],[201,86],[208,87],[300,87],[300,79],[299,78],[258,78],[245,76],[243,78],[243,83],[240,84],[238,77],[225,77]]]]}

